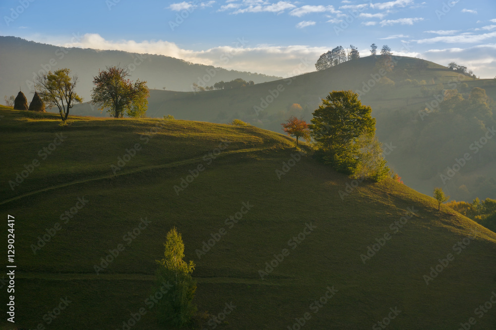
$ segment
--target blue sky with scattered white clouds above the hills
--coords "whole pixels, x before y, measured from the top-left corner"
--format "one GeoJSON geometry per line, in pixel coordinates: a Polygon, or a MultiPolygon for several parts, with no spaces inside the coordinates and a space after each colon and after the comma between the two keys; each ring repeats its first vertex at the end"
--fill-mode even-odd
{"type": "MultiPolygon", "coordinates": [[[[353,45],[496,77],[495,0],[0,0],[0,35],[290,77],[353,45]]],[[[1,64],[1,59],[0,59],[1,64]]]]}

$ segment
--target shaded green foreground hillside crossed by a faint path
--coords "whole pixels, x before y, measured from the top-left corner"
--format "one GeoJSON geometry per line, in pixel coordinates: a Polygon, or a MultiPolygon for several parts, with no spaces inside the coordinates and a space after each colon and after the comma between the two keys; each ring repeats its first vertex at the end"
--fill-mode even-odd
{"type": "MultiPolygon", "coordinates": [[[[293,163],[294,140],[253,126],[75,117],[61,128],[53,114],[0,115],[0,205],[15,217],[19,329],[123,329],[140,308],[146,314],[131,329],[160,329],[146,299],[173,226],[196,263],[199,311],[236,306],[216,329],[298,329],[305,315],[308,329],[370,329],[394,316],[390,308],[398,315],[388,329],[458,329],[471,317],[478,329],[496,326],[492,310],[474,313],[496,289],[496,234],[447,207],[438,213],[433,198],[404,185],[357,186],[305,154],[293,163]],[[44,147],[53,149],[46,159],[44,147]],[[114,175],[119,157],[128,161],[114,175]],[[39,165],[10,189],[34,159],[39,165]],[[287,172],[279,180],[276,170],[287,172]],[[190,183],[176,193],[182,179],[190,183]],[[248,212],[237,214],[243,203],[248,212]],[[71,208],[77,213],[64,218],[71,208]],[[230,216],[238,222],[226,223],[230,216]],[[136,230],[141,219],[149,223],[136,230]],[[34,254],[31,244],[53,228],[34,254]],[[212,237],[200,258],[195,250],[212,237]],[[383,246],[363,262],[377,241],[383,246]],[[94,265],[119,244],[124,250],[97,275],[94,265]],[[426,285],[448,253],[454,260],[426,285]],[[52,318],[61,298],[67,307],[52,318]]],[[[10,329],[5,318],[1,325],[10,329]]]]}

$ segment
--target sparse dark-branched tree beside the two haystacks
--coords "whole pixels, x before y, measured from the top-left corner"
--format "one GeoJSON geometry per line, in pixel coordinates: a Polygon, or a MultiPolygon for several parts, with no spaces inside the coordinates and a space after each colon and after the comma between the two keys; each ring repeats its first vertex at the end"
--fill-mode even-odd
{"type": "Polygon", "coordinates": [[[70,75],[70,70],[59,69],[55,72],[39,76],[36,82],[38,95],[47,107],[58,107],[62,122],[67,120],[69,109],[74,102],[82,102],[83,99],[74,92],[77,83],[77,75],[70,75]]]}

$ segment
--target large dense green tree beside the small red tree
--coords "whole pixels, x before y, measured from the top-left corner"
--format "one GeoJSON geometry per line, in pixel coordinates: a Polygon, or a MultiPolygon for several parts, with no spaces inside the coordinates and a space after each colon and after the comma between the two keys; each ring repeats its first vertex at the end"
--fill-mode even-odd
{"type": "Polygon", "coordinates": [[[335,170],[353,175],[359,168],[362,135],[374,136],[372,108],[352,91],[333,91],[313,112],[310,135],[316,155],[335,170]]]}

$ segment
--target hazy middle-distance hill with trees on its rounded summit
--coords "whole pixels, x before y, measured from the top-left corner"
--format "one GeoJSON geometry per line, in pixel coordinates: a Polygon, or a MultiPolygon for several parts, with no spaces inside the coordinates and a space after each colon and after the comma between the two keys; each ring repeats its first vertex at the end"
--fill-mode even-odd
{"type": "MultiPolygon", "coordinates": [[[[384,75],[394,86],[376,83],[381,77],[378,71],[373,58],[364,57],[327,70],[237,90],[197,94],[155,90],[150,93],[147,115],[162,118],[172,114],[177,119],[214,123],[240,118],[254,126],[282,132],[280,124],[292,115],[310,121],[311,113],[330,91],[351,89],[361,92],[362,102],[372,107],[372,116],[377,119],[377,137],[394,146],[393,152],[386,155],[388,165],[406,184],[427,194],[433,187],[443,186],[457,200],[493,198],[496,195],[495,139],[449,183],[442,182],[440,175],[445,175],[446,168],[469,151],[471,143],[484,136],[486,126],[495,125],[496,115],[492,121],[480,123],[480,119],[459,118],[449,113],[437,119],[434,114],[421,117],[419,111],[429,106],[429,111],[439,112],[436,104],[442,99],[442,89],[456,88],[468,99],[470,91],[480,87],[496,99],[496,80],[473,79],[442,65],[411,57],[398,57],[392,72],[384,75]],[[429,93],[423,94],[423,89],[429,93]],[[293,103],[300,104],[303,110],[291,110],[293,103]],[[446,144],[450,147],[446,148],[446,144]]],[[[101,115],[88,104],[76,105],[73,112],[101,115]]],[[[496,114],[494,107],[493,113],[496,114]]]]}

